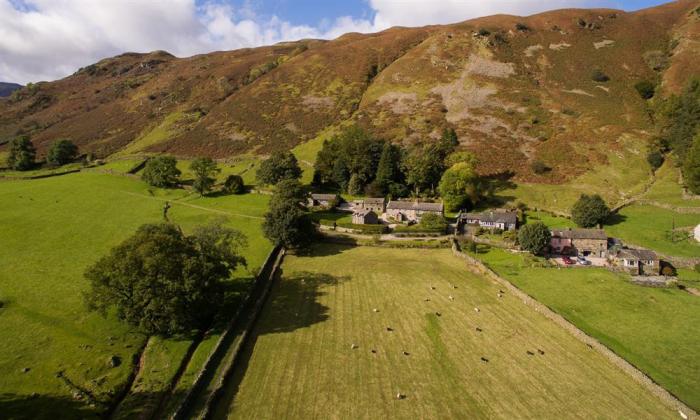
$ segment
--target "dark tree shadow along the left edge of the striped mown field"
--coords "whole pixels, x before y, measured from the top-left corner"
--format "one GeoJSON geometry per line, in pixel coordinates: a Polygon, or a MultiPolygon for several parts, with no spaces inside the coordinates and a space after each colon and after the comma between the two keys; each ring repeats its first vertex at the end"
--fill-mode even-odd
{"type": "Polygon", "coordinates": [[[338,277],[307,271],[285,275],[280,270],[260,318],[238,355],[232,375],[213,409],[213,418],[227,417],[250,365],[258,339],[265,334],[292,332],[326,321],[330,317],[330,308],[318,301],[319,297],[326,294],[323,289],[349,279],[347,276],[338,277]]]}

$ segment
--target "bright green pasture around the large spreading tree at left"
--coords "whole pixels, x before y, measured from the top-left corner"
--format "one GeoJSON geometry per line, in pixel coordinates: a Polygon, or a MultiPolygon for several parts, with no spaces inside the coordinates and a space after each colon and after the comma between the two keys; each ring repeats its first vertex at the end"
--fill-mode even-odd
{"type": "MultiPolygon", "coordinates": [[[[93,416],[124,386],[146,337],[113,316],[86,312],[83,272],[141,224],[160,222],[165,200],[185,231],[223,217],[247,235],[249,268],[240,281],[271,249],[260,231],[266,196],[198,198],[96,172],[0,182],[0,417],[93,416]],[[108,365],[112,356],[119,366],[108,365]]],[[[139,392],[162,391],[189,344],[151,340],[139,392]]]]}

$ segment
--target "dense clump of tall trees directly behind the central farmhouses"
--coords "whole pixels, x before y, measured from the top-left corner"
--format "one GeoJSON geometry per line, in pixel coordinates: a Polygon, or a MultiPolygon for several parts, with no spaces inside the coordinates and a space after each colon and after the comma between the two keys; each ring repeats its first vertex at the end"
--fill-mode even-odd
{"type": "Polygon", "coordinates": [[[490,191],[476,160],[456,151],[457,134],[445,129],[437,142],[402,148],[372,137],[357,126],[325,141],[314,166],[313,183],[352,195],[439,195],[449,210],[473,207],[490,191]]]}

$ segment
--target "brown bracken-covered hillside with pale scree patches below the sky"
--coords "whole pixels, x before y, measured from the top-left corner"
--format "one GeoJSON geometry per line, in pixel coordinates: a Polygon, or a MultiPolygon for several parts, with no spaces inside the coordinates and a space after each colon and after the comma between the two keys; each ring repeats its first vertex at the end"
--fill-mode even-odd
{"type": "Polygon", "coordinates": [[[0,144],[29,133],[40,153],[67,137],[100,157],[224,158],[351,121],[404,143],[451,126],[481,172],[561,183],[643,150],[653,123],[634,85],[668,94],[700,74],[699,6],[493,16],[190,58],[126,53],[0,99],[0,144]],[[532,173],[538,160],[552,170],[532,173]]]}

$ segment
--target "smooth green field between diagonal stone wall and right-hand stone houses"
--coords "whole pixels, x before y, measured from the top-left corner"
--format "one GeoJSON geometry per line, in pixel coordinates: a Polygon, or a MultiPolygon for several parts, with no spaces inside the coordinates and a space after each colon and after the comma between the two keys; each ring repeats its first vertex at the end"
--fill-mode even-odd
{"type": "MultiPolygon", "coordinates": [[[[700,409],[700,298],[675,288],[636,286],[602,268],[533,268],[532,261],[497,249],[478,257],[700,409]]],[[[700,280],[689,270],[682,278],[700,280]]]]}

